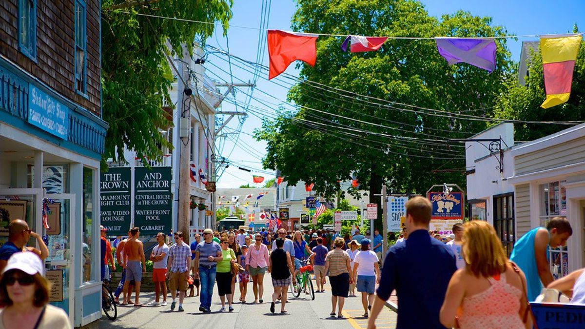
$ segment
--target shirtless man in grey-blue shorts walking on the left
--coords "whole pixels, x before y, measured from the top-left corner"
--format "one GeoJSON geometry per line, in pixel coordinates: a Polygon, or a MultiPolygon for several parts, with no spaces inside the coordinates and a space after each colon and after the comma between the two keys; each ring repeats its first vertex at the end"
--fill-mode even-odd
{"type": "MultiPolygon", "coordinates": [[[[140,230],[137,227],[130,229],[130,238],[124,244],[124,264],[126,270],[126,282],[124,283],[124,291],[128,291],[128,284],[134,280],[136,284],[136,299],[134,306],[140,306],[138,299],[140,297],[140,281],[142,281],[142,273],[146,272],[146,259],[144,258],[144,246],[140,237],[140,230]],[[142,263],[142,271],[140,270],[140,263],[142,263]]],[[[124,302],[126,304],[126,293],[124,293],[124,302]]]]}

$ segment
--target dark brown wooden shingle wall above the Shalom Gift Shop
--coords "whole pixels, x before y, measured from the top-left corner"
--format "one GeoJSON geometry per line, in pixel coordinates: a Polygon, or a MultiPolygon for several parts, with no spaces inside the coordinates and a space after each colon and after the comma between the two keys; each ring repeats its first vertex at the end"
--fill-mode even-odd
{"type": "Polygon", "coordinates": [[[37,1],[37,58],[18,50],[18,0],[0,1],[0,54],[56,92],[101,116],[99,0],[87,0],[87,97],[75,92],[74,0],[37,1]]]}

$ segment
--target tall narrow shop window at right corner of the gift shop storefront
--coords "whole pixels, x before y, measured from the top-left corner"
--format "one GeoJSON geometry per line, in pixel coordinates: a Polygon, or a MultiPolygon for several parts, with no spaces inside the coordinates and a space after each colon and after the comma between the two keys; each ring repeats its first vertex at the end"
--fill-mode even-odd
{"type": "Polygon", "coordinates": [[[81,220],[81,273],[83,282],[94,280],[92,246],[92,222],[94,220],[94,169],[83,167],[83,214],[81,220]]]}

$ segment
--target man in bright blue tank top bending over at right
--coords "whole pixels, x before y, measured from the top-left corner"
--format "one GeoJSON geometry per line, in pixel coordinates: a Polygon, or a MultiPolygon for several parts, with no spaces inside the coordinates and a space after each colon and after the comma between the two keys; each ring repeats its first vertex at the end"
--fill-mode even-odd
{"type": "Polygon", "coordinates": [[[546,228],[537,227],[522,235],[514,244],[510,260],[515,262],[526,276],[528,301],[536,300],[542,287],[553,282],[547,260],[550,248],[565,246],[573,235],[573,229],[565,217],[555,217],[546,228]],[[542,285],[541,285],[542,282],[542,285]]]}

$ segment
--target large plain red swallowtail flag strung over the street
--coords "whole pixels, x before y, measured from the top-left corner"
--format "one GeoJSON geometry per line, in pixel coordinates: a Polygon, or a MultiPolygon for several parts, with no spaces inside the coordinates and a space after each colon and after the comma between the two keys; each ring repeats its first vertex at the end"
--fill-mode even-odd
{"type": "Polygon", "coordinates": [[[278,76],[295,60],[315,66],[317,36],[304,33],[268,30],[267,44],[270,56],[269,80],[278,76]]]}

